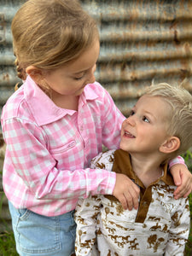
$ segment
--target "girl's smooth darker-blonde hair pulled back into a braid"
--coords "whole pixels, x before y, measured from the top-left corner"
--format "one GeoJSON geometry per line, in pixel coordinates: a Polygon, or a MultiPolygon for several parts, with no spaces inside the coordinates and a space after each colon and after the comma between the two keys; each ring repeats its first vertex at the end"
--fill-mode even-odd
{"type": "Polygon", "coordinates": [[[28,0],[11,30],[18,76],[25,79],[28,66],[51,70],[73,61],[99,38],[96,21],[78,0],[28,0]]]}

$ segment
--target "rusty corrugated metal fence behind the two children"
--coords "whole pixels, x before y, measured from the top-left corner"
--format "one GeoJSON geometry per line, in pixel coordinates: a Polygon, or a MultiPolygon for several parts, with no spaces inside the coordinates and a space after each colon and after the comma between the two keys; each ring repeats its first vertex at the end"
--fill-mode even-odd
{"type": "MultiPolygon", "coordinates": [[[[0,108],[19,81],[15,75],[10,23],[24,2],[0,0],[0,108]]],[[[152,80],[180,84],[185,79],[189,81],[186,88],[192,92],[191,0],[82,0],[81,3],[100,29],[96,80],[109,91],[125,115],[152,80]]],[[[3,218],[7,216],[7,208],[4,212],[3,218]]]]}

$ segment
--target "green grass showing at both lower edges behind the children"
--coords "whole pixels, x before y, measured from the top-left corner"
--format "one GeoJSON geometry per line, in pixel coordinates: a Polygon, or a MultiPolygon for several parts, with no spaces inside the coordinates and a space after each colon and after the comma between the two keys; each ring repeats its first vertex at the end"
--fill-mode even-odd
{"type": "MultiPolygon", "coordinates": [[[[187,151],[186,154],[183,154],[183,158],[185,160],[185,163],[189,167],[189,171],[192,172],[192,153],[191,151],[187,151]]],[[[0,172],[1,174],[1,172],[0,172]]],[[[0,212],[2,209],[3,199],[0,200],[0,212]]],[[[190,219],[191,219],[191,228],[189,232],[189,240],[185,247],[185,256],[191,256],[192,255],[192,194],[189,195],[189,206],[190,206],[190,219]]],[[[2,219],[0,219],[3,221],[2,219]]],[[[3,223],[6,225],[6,223],[3,223]]],[[[18,256],[15,250],[15,238],[13,235],[12,230],[7,230],[0,234],[0,256],[18,256]]]]}

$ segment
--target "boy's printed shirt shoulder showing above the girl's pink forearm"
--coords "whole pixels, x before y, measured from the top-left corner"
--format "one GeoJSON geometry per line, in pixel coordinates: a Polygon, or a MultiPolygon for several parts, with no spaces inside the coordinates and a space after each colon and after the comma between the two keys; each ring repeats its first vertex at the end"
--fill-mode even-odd
{"type": "Polygon", "coordinates": [[[92,169],[105,169],[112,171],[113,161],[114,161],[114,152],[113,150],[108,150],[106,152],[100,153],[94,157],[90,162],[90,168],[92,169]]]}

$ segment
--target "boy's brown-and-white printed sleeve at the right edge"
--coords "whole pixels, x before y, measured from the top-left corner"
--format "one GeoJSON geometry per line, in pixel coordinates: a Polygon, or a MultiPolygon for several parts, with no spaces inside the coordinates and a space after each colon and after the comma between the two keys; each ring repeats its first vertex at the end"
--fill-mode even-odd
{"type": "Polygon", "coordinates": [[[177,211],[172,214],[172,226],[166,245],[165,256],[183,256],[185,244],[189,236],[189,200],[180,200],[177,211]]]}

